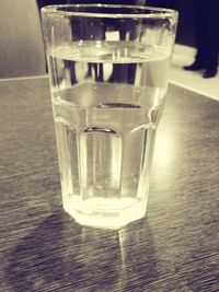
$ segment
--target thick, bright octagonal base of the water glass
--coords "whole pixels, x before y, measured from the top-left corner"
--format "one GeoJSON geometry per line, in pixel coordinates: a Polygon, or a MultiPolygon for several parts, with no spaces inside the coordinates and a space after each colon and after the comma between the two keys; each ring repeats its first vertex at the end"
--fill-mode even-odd
{"type": "Polygon", "coordinates": [[[64,209],[80,225],[118,230],[146,215],[147,200],[94,197],[82,201],[72,196],[64,201],[64,209]]]}

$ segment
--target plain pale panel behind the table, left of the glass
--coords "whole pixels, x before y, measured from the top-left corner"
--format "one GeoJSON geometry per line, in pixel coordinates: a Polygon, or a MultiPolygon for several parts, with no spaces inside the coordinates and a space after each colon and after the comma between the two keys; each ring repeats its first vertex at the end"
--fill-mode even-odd
{"type": "Polygon", "coordinates": [[[45,54],[36,1],[0,0],[0,78],[45,72],[45,54]]]}

